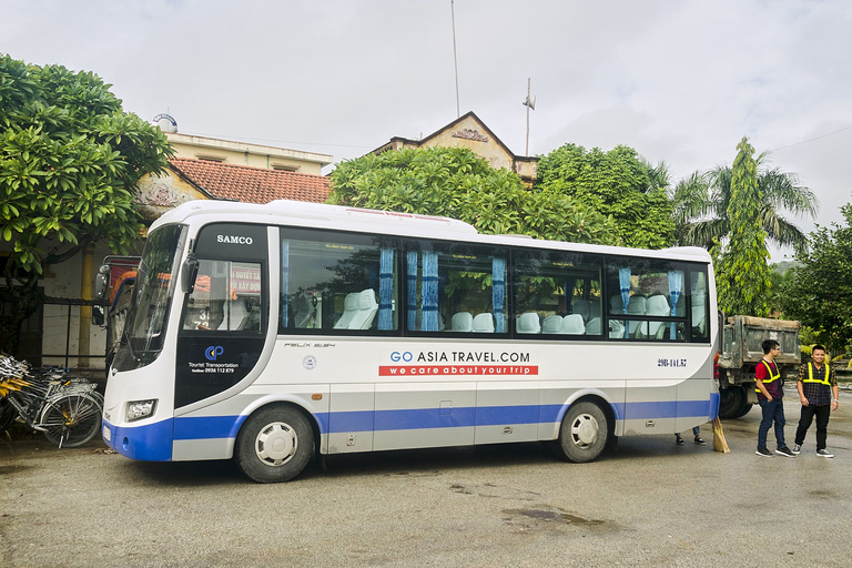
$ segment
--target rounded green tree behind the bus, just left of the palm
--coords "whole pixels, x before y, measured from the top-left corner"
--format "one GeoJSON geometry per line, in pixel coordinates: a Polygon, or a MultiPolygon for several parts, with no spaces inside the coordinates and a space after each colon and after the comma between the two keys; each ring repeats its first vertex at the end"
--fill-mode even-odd
{"type": "Polygon", "coordinates": [[[565,144],[538,162],[536,189],[565,195],[612,217],[626,246],[661,248],[674,240],[672,206],[666,193],[668,169],[650,166],[627,146],[609,152],[565,144]]]}

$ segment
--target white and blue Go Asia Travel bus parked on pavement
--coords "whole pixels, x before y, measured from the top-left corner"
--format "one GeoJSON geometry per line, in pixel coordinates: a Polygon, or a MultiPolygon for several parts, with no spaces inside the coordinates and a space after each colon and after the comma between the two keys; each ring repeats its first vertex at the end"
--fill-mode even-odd
{"type": "Polygon", "coordinates": [[[618,436],[717,416],[702,248],[481,235],[425,215],[195,201],[149,232],[103,439],[141,460],[312,457],[618,436]]]}

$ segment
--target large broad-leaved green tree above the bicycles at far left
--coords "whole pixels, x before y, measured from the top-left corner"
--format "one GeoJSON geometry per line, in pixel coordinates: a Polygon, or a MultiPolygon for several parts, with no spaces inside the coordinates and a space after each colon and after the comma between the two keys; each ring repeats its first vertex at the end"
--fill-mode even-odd
{"type": "Polygon", "coordinates": [[[18,306],[0,320],[4,351],[41,304],[49,266],[95,242],[125,253],[139,239],[135,183],[163,172],[172,151],[109,88],[91,72],[0,54],[0,239],[11,247],[0,298],[18,306]]]}

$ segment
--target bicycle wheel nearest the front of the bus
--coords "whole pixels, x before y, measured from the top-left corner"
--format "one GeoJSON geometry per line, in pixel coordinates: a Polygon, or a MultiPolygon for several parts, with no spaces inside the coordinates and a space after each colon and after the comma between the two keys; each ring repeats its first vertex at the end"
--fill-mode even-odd
{"type": "Polygon", "coordinates": [[[94,438],[101,428],[102,407],[98,399],[80,393],[54,398],[44,407],[40,426],[44,436],[60,448],[75,448],[94,438]]]}

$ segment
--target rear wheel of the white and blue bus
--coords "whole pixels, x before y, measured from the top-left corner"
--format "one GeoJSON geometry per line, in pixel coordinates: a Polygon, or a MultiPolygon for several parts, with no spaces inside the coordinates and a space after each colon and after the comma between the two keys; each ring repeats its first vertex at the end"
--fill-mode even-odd
{"type": "Polygon", "coordinates": [[[604,410],[595,403],[575,403],[568,407],[556,440],[557,455],[582,464],[600,456],[609,439],[609,423],[604,410]]]}

